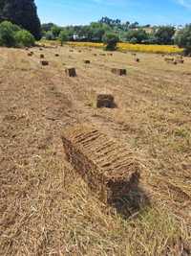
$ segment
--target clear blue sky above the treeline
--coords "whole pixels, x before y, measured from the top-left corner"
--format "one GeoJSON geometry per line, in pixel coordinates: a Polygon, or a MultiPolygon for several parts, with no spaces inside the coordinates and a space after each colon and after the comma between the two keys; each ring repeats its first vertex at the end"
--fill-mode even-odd
{"type": "Polygon", "coordinates": [[[102,16],[140,24],[191,23],[191,0],[35,0],[41,21],[89,24],[102,16]]]}

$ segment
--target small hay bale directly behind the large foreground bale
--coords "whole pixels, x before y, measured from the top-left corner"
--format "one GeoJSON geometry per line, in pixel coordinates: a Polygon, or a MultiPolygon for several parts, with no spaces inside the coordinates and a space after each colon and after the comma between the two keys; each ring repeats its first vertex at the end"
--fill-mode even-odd
{"type": "Polygon", "coordinates": [[[115,98],[112,94],[102,93],[96,96],[96,107],[114,108],[115,106],[115,98]]]}

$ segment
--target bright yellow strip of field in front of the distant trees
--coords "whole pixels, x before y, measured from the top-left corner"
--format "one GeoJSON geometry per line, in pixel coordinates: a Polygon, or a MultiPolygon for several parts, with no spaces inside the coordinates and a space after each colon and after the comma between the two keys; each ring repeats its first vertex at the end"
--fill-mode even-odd
{"type": "MultiPolygon", "coordinates": [[[[93,42],[69,42],[72,46],[81,47],[95,47],[102,48],[103,43],[93,43],[93,42]]],[[[155,53],[155,54],[179,54],[183,50],[175,45],[156,45],[156,44],[132,44],[132,43],[118,43],[118,51],[127,52],[141,52],[141,53],[155,53]]]]}

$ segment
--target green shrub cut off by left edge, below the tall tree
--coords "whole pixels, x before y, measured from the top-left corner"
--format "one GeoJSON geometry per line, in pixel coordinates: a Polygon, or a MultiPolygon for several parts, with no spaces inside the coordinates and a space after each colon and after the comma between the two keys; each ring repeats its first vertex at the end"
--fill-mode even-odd
{"type": "Polygon", "coordinates": [[[14,34],[17,28],[18,27],[12,25],[10,21],[3,21],[0,24],[0,45],[1,46],[13,47],[16,45],[14,34]]]}

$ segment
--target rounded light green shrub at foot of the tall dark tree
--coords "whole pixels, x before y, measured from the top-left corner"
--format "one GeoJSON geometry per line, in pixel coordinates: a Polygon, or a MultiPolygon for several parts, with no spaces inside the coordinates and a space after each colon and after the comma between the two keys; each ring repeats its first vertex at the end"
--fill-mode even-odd
{"type": "Polygon", "coordinates": [[[30,46],[33,46],[35,43],[34,36],[26,30],[20,30],[16,32],[15,39],[16,39],[16,44],[18,46],[30,47],[30,46]]]}

